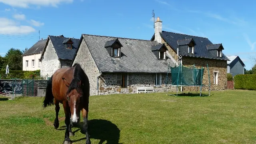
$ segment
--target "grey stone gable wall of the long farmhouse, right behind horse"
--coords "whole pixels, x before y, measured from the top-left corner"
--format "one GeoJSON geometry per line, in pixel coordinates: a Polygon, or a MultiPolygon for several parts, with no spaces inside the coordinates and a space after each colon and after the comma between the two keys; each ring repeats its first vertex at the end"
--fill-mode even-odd
{"type": "Polygon", "coordinates": [[[90,51],[84,39],[80,44],[79,50],[72,65],[74,65],[75,63],[80,64],[82,69],[88,76],[90,82],[90,95],[96,95],[97,77],[100,75],[100,72],[94,62],[94,59],[92,58],[92,55],[90,54],[90,51]]]}

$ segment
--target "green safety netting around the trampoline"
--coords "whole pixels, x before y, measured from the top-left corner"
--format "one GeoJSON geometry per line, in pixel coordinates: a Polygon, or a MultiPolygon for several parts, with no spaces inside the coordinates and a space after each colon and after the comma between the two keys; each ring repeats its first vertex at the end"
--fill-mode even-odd
{"type": "Polygon", "coordinates": [[[204,76],[204,68],[196,68],[196,66],[170,66],[172,74],[172,85],[179,86],[203,86],[202,77],[204,76]]]}

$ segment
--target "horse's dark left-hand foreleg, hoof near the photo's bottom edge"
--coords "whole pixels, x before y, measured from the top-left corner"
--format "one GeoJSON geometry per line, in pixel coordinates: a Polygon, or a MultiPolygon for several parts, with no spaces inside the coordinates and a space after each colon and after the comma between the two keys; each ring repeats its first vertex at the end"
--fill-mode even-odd
{"type": "Polygon", "coordinates": [[[69,138],[69,126],[70,126],[70,108],[67,103],[63,102],[63,108],[65,112],[65,124],[66,124],[66,132],[65,132],[65,140],[63,144],[71,144],[71,140],[69,138]]]}

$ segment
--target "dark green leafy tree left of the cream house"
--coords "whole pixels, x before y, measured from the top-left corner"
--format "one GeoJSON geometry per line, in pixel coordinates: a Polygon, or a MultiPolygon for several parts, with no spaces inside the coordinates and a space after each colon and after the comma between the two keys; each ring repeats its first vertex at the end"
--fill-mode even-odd
{"type": "Polygon", "coordinates": [[[8,64],[9,70],[22,70],[22,54],[19,49],[8,50],[5,55],[5,66],[8,64]]]}

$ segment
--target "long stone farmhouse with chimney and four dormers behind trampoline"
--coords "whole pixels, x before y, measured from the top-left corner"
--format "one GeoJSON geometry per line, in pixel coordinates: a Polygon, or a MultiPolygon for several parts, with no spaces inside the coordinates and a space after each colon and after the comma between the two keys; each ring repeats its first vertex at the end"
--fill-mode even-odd
{"type": "MultiPolygon", "coordinates": [[[[198,68],[208,64],[211,90],[222,90],[226,89],[228,60],[222,50],[222,44],[212,44],[208,38],[162,31],[158,17],[151,40],[82,34],[71,66],[81,64],[90,80],[90,95],[135,93],[137,87],[164,92],[168,64],[179,63],[198,68]]],[[[207,68],[203,82],[208,84],[207,68]]],[[[167,90],[176,90],[170,83],[168,75],[167,90]]]]}

